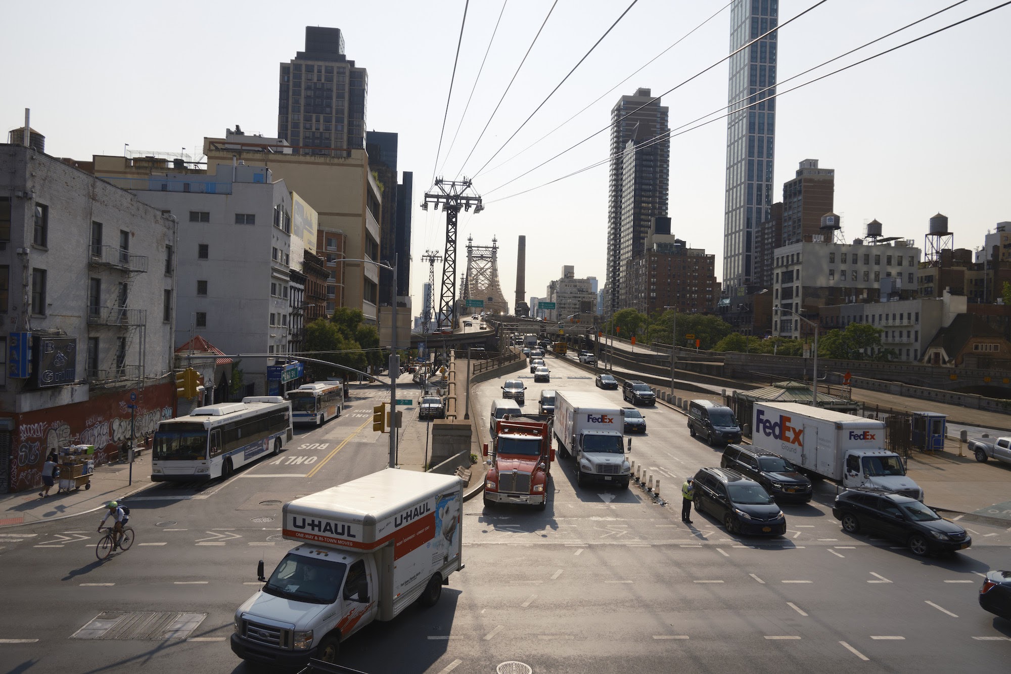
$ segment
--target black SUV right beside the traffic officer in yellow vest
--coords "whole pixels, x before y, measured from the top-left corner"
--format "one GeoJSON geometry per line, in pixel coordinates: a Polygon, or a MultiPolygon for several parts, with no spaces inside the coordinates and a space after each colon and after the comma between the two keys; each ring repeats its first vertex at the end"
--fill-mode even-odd
{"type": "Polygon", "coordinates": [[[782,536],[787,532],[787,516],[772,497],[737,471],[700,469],[694,487],[696,510],[719,519],[727,533],[782,536]]]}

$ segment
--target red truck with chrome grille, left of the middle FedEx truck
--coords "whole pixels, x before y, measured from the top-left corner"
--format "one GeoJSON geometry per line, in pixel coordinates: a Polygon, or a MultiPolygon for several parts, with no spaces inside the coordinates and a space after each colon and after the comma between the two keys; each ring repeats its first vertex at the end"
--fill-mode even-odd
{"type": "MultiPolygon", "coordinates": [[[[488,473],[484,479],[484,505],[521,503],[544,510],[548,505],[548,478],[555,450],[547,421],[499,419],[488,473]]],[[[484,445],[488,455],[488,445],[484,445]]]]}

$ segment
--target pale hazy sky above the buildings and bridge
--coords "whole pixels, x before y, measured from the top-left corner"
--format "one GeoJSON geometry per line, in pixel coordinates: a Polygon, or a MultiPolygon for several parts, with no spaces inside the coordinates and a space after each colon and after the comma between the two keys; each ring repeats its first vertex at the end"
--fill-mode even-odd
{"type": "MultiPolygon", "coordinates": [[[[116,155],[128,143],[153,152],[186,148],[202,158],[202,139],[236,124],[276,136],[278,65],[304,49],[306,25],[341,28],[347,57],[369,72],[367,128],[399,134],[398,168],[415,174],[415,313],[429,272],[422,255],[445,247],[444,214],[419,207],[434,175],[473,179],[485,209],[460,214],[457,277],[467,238],[475,245],[496,238],[501,289],[512,308],[519,235],[527,237],[525,299],[543,297],[563,265],[604,286],[607,128],[622,95],[639,87],[663,94],[672,129],[716,118],[727,103],[726,0],[638,0],[549,98],[632,4],[558,0],[534,41],[552,1],[505,0],[503,10],[501,0],[470,0],[460,39],[465,0],[36,0],[31,13],[44,21],[8,31],[0,43],[8,64],[0,73],[0,121],[3,131],[21,127],[24,108],[31,108],[32,128],[57,157],[116,155]]],[[[779,24],[818,1],[780,0],[779,24]]],[[[967,0],[784,82],[955,1],[827,0],[778,31],[777,200],[782,184],[810,158],[835,169],[834,209],[847,240],[863,236],[864,225],[877,219],[885,236],[922,247],[928,219],[939,212],[949,219],[955,247],[978,248],[998,222],[1011,221],[1011,5],[785,91],[1003,0],[967,0]]],[[[726,122],[694,125],[671,140],[668,215],[678,238],[716,254],[720,275],[726,122]]],[[[441,272],[437,265],[437,283],[441,272]]]]}

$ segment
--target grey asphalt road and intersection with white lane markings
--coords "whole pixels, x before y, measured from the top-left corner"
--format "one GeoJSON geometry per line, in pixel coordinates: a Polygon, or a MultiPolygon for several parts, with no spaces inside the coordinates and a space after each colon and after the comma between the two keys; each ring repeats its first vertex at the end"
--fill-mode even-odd
{"type": "MultiPolygon", "coordinates": [[[[527,409],[542,389],[592,389],[587,372],[548,364],[549,384],[535,385],[529,369],[508,377],[527,384],[527,409]]],[[[472,391],[484,434],[504,378],[472,391]]],[[[603,395],[622,404],[620,392],[603,395]]],[[[280,505],[385,465],[373,404],[353,399],[341,419],[298,432],[279,457],[223,483],[160,485],[131,499],[137,541],[104,563],[94,557],[97,516],[5,529],[0,670],[252,671],[227,638],[235,608],[256,589],[257,561],[269,571],[290,546],[277,539],[280,505]],[[132,639],[82,639],[107,611],[164,619],[132,639]]],[[[495,672],[507,661],[591,674],[1007,671],[1011,622],[980,609],[977,591],[988,569],[1011,566],[1011,532],[973,524],[970,550],[915,558],[843,532],[825,484],[812,505],[785,508],[784,537],[728,535],[698,513],[687,526],[680,482],[719,465],[720,451],[690,438],[679,413],[644,413],[648,432],[630,457],[660,479],[670,504],[635,486],[580,489],[568,459],[553,466],[544,512],[472,499],[466,569],[440,603],[366,627],[342,664],[371,674],[495,672]]]]}

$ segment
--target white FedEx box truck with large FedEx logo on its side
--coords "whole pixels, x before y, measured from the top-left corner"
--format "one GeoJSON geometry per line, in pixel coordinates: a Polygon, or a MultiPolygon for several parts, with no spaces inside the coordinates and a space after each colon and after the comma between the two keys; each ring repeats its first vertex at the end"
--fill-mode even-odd
{"type": "Polygon", "coordinates": [[[751,443],[843,487],[876,487],[923,500],[902,457],[885,448],[885,422],[799,403],[755,402],[751,443]]]}

